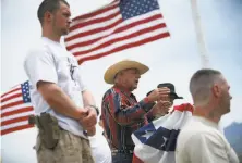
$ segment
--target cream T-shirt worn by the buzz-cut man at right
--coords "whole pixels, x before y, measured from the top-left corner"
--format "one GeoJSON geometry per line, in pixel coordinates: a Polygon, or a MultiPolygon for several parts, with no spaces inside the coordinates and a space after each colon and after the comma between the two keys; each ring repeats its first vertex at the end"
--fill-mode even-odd
{"type": "Polygon", "coordinates": [[[176,162],[239,163],[239,159],[217,124],[193,116],[178,136],[176,162]]]}

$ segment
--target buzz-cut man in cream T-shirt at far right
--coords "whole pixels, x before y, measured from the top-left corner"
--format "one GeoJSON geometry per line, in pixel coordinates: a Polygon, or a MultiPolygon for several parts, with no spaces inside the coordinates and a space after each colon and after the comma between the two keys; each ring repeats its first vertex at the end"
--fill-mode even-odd
{"type": "Polygon", "coordinates": [[[176,149],[177,163],[239,163],[218,123],[230,112],[230,86],[216,70],[199,70],[191,78],[195,111],[181,129],[176,149]]]}

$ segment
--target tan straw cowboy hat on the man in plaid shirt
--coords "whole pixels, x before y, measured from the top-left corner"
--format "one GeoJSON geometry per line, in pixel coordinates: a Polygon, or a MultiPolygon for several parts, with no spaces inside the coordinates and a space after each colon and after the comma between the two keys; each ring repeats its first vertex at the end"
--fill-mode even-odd
{"type": "Polygon", "coordinates": [[[142,74],[146,73],[149,68],[148,66],[131,60],[123,60],[113,65],[111,65],[105,73],[105,82],[107,84],[114,84],[114,76],[117,73],[129,70],[129,68],[136,68],[142,74]]]}

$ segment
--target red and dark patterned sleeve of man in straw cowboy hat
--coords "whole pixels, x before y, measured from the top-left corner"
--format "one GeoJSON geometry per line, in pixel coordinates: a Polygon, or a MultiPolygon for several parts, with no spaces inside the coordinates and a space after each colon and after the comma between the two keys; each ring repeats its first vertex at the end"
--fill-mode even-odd
{"type": "Polygon", "coordinates": [[[147,111],[144,110],[144,105],[148,103],[147,98],[141,100],[135,105],[126,106],[121,101],[121,96],[117,92],[109,95],[107,97],[107,106],[111,116],[119,123],[120,125],[131,125],[135,122],[135,120],[140,120],[147,111]]]}

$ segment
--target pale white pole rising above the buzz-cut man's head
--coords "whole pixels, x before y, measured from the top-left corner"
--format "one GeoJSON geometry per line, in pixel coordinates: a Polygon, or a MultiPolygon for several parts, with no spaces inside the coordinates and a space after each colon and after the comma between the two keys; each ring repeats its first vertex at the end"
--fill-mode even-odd
{"type": "Polygon", "coordinates": [[[203,28],[201,24],[201,16],[197,9],[197,1],[191,0],[191,4],[192,4],[192,16],[193,16],[193,22],[194,22],[195,33],[196,33],[197,48],[198,48],[198,53],[201,55],[201,61],[202,61],[202,67],[206,68],[206,67],[209,67],[209,59],[208,59],[207,49],[206,49],[206,45],[204,40],[203,28]]]}

